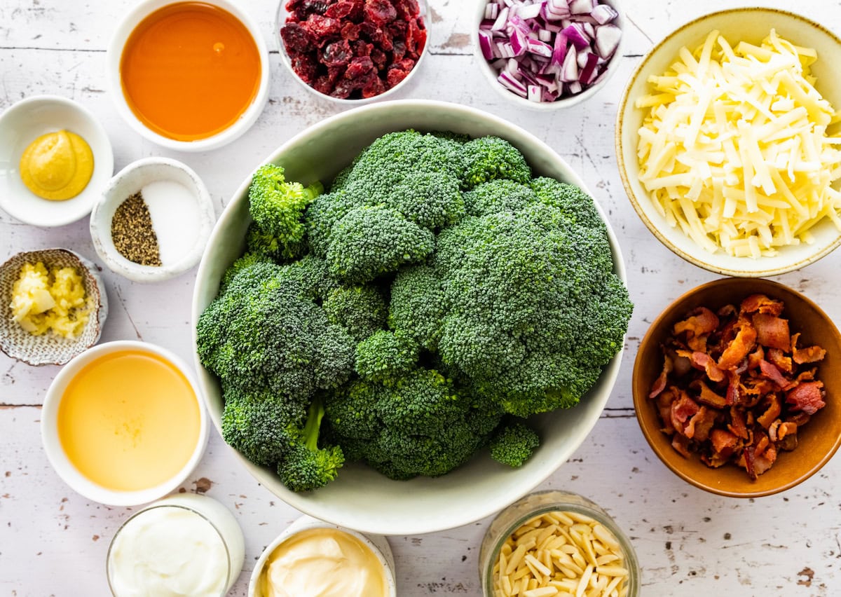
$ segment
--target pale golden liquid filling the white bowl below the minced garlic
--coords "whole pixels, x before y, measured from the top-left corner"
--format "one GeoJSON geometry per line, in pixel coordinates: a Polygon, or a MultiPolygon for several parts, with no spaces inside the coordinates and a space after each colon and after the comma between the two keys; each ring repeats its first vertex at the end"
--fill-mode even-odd
{"type": "Polygon", "coordinates": [[[79,473],[116,491],[150,489],[184,468],[198,444],[201,415],[188,379],[151,352],[98,357],[67,384],[58,436],[79,473]]]}

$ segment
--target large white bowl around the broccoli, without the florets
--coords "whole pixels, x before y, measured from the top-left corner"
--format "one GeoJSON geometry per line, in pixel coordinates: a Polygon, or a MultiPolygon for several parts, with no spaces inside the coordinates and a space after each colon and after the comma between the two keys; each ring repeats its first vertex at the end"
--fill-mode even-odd
{"type": "MultiPolygon", "coordinates": [[[[431,101],[376,103],[339,114],[295,136],[265,161],[283,166],[289,180],[308,184],[318,179],[329,186],[336,173],[373,140],[410,128],[452,130],[473,137],[498,135],[516,145],[537,174],[587,190],[565,161],[525,130],[474,108],[431,101]]],[[[193,322],[216,296],[225,268],[244,250],[246,228],[251,221],[246,193],[250,182],[250,178],[242,182],[210,236],[198,267],[193,322]]],[[[604,212],[600,213],[604,218],[604,212]]],[[[607,230],[614,269],[625,280],[616,236],[609,225],[607,230]]],[[[237,455],[257,480],[280,499],[336,525],[379,535],[415,535],[462,526],[510,505],[572,456],[598,420],[620,362],[621,351],[607,365],[595,388],[574,409],[534,418],[542,446],[522,468],[500,465],[490,459],[486,450],[452,473],[410,481],[393,481],[372,468],[350,463],[327,487],[295,494],[283,486],[272,469],[248,462],[239,452],[237,455]]],[[[196,369],[210,416],[220,429],[223,402],[219,383],[202,367],[198,357],[196,369]]]]}

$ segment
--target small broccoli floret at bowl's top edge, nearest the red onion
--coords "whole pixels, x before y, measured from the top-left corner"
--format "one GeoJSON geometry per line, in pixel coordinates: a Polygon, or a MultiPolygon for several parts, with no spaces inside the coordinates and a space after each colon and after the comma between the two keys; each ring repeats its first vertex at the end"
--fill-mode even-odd
{"type": "Polygon", "coordinates": [[[532,169],[526,163],[526,158],[504,139],[479,137],[465,143],[463,148],[466,160],[465,188],[473,188],[495,178],[506,178],[523,184],[532,178],[532,169]]]}

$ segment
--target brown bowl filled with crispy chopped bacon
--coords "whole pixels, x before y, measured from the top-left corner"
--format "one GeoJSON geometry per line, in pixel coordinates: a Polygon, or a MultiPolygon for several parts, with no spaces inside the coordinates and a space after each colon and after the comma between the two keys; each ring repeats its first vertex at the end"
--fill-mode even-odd
{"type": "Polygon", "coordinates": [[[841,444],[841,335],[780,283],[706,283],[649,328],[633,400],[646,440],[681,478],[731,497],[775,494],[841,444]]]}

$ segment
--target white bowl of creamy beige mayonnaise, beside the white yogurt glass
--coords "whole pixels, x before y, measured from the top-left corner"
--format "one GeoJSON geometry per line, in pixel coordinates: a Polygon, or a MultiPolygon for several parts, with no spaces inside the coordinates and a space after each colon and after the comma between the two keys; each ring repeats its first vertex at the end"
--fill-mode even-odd
{"type": "Polygon", "coordinates": [[[382,535],[301,516],[254,566],[248,597],[396,597],[394,556],[382,535]]]}

